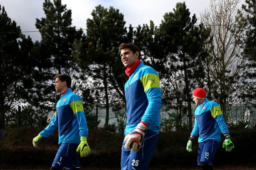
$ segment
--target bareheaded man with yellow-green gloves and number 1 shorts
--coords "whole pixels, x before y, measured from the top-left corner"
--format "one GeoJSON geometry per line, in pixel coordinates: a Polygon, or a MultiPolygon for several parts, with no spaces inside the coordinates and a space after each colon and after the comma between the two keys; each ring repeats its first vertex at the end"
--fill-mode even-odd
{"type": "Polygon", "coordinates": [[[58,128],[60,148],[51,170],[79,170],[79,155],[85,157],[91,153],[87,143],[88,127],[82,99],[70,89],[71,77],[69,75],[58,74],[54,80],[55,90],[61,94],[56,112],[51,123],[32,142],[35,147],[38,147],[41,139],[51,136],[58,128]]]}

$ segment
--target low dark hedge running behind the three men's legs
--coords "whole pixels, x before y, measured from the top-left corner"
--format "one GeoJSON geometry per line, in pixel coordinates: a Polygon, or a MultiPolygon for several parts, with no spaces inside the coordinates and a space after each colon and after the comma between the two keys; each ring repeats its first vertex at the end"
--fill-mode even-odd
{"type": "MultiPolygon", "coordinates": [[[[34,148],[32,139],[40,129],[21,127],[3,130],[0,140],[0,168],[48,165],[52,164],[58,149],[57,132],[48,139],[40,141],[39,148],[34,148]]],[[[196,165],[198,143],[193,143],[193,151],[186,151],[189,132],[160,133],[158,145],[151,164],[156,166],[196,165]]],[[[248,129],[231,130],[235,149],[225,152],[221,145],[214,159],[215,165],[253,163],[256,160],[256,131],[248,129]]],[[[105,130],[90,130],[88,144],[92,154],[81,158],[82,167],[119,167],[123,136],[105,130]]],[[[222,138],[222,141],[224,139],[222,138]]]]}

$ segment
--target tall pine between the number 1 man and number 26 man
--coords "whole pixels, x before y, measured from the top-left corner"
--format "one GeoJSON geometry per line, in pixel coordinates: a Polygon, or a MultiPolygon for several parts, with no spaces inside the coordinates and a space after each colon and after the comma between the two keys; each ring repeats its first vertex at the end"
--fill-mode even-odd
{"type": "Polygon", "coordinates": [[[97,87],[96,102],[106,109],[105,125],[107,125],[111,105],[125,101],[125,78],[124,74],[120,74],[123,68],[118,56],[118,47],[123,43],[123,36],[126,33],[125,21],[118,9],[112,6],[106,9],[98,5],[92,11],[92,19],[87,19],[86,25],[86,40],[89,43],[87,55],[83,61],[85,63],[90,61],[88,71],[97,87]]]}

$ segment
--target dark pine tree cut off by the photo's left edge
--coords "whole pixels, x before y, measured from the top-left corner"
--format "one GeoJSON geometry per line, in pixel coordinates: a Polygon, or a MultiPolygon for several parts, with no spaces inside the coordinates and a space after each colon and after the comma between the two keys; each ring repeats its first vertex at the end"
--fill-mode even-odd
{"type": "Polygon", "coordinates": [[[20,27],[1,6],[0,25],[0,128],[3,128],[7,112],[27,101],[26,90],[32,87],[29,75],[34,64],[30,56],[31,38],[21,34],[20,27]]]}

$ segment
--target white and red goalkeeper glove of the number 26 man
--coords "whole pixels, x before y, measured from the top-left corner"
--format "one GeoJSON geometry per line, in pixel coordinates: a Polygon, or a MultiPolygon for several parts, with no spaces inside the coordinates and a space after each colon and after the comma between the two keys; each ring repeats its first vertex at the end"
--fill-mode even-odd
{"type": "Polygon", "coordinates": [[[142,140],[148,127],[148,124],[141,121],[137,127],[124,138],[123,141],[126,141],[124,148],[131,149],[132,151],[139,151],[139,147],[142,145],[142,140]]]}

